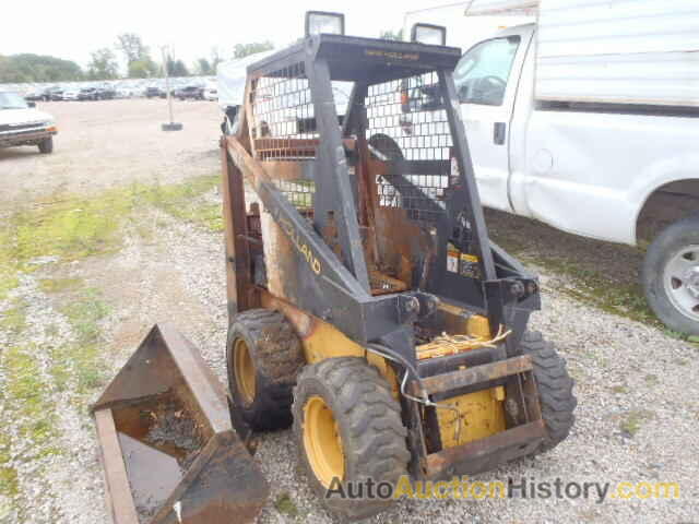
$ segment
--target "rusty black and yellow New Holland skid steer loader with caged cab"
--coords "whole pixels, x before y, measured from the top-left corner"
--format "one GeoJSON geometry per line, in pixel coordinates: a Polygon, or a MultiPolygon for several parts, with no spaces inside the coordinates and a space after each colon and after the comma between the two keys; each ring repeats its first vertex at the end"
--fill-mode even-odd
{"type": "MultiPolygon", "coordinates": [[[[335,478],[474,474],[572,426],[565,364],[526,331],[537,278],[488,238],[459,58],[307,36],[248,68],[222,138],[230,393],[256,429],[293,419],[320,496],[335,478]]],[[[348,519],[386,505],[323,502],[348,519]]]]}

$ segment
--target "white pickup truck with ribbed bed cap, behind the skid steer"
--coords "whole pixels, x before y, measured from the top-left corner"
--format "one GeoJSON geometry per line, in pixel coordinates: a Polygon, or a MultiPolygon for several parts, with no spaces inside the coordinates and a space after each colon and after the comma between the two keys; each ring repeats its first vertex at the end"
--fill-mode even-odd
{"type": "Polygon", "coordinates": [[[652,240],[648,301],[699,335],[699,2],[467,5],[466,16],[538,15],[476,43],[454,71],[483,203],[585,237],[652,240]]]}

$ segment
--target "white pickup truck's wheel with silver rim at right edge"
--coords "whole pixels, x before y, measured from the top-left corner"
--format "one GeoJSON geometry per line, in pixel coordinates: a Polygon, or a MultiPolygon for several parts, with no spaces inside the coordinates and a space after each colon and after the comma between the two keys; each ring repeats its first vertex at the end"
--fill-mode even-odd
{"type": "Polygon", "coordinates": [[[699,215],[665,228],[645,253],[648,303],[671,330],[699,335],[699,215]]]}

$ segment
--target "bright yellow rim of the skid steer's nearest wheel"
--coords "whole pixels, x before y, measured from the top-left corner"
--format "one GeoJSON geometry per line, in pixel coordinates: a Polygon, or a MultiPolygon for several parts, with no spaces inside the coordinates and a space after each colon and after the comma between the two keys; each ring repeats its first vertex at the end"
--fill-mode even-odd
{"type": "Polygon", "coordinates": [[[304,446],[316,478],[329,488],[334,477],[344,478],[342,437],[325,401],[311,396],[304,406],[304,446]]]}

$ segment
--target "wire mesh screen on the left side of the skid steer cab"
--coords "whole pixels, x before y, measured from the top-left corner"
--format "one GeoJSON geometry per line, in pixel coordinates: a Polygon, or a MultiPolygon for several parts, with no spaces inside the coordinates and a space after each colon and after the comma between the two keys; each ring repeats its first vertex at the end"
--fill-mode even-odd
{"type": "Polygon", "coordinates": [[[305,164],[316,158],[318,131],[304,63],[252,81],[250,139],[254,156],[270,166],[269,175],[299,210],[312,210],[315,184],[305,164]]]}

